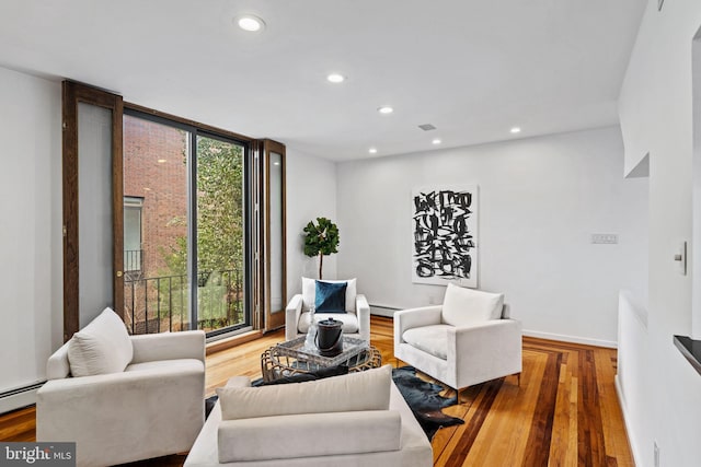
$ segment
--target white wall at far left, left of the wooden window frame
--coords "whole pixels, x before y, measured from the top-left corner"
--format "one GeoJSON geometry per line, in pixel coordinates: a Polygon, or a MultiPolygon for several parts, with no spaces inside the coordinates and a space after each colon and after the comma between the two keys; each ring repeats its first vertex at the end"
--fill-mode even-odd
{"type": "Polygon", "coordinates": [[[0,393],[61,342],[60,83],[0,68],[0,393]]]}

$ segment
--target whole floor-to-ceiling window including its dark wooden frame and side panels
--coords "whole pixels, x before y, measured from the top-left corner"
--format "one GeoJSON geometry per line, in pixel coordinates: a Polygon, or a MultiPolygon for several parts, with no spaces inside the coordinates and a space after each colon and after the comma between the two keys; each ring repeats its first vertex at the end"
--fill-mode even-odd
{"type": "Polygon", "coordinates": [[[62,91],[64,339],[105,306],[133,334],[283,326],[285,145],[62,91]]]}

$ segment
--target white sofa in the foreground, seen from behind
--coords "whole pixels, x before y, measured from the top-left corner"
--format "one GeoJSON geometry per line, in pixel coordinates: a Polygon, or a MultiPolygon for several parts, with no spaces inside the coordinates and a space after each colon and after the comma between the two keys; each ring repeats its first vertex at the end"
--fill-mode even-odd
{"type": "Polygon", "coordinates": [[[186,467],[429,467],[430,443],[391,367],[332,378],[219,389],[186,467]],[[222,402],[223,409],[222,409],[222,402]]]}

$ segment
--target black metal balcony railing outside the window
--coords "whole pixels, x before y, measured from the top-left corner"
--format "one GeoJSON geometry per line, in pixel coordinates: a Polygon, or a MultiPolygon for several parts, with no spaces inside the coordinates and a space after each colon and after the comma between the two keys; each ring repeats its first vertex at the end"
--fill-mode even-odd
{"type": "MultiPolygon", "coordinates": [[[[245,324],[243,277],[235,269],[197,275],[197,327],[211,331],[245,324]]],[[[129,331],[151,334],[191,329],[186,275],[124,280],[129,331]]]]}

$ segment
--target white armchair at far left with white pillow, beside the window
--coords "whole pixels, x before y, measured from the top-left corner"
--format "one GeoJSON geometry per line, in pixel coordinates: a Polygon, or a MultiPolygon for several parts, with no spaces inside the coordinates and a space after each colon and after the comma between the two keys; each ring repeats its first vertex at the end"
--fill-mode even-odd
{"type": "Polygon", "coordinates": [[[78,466],[187,452],[204,416],[205,334],[129,336],[106,308],[48,360],[36,440],[77,443],[78,466]]]}

